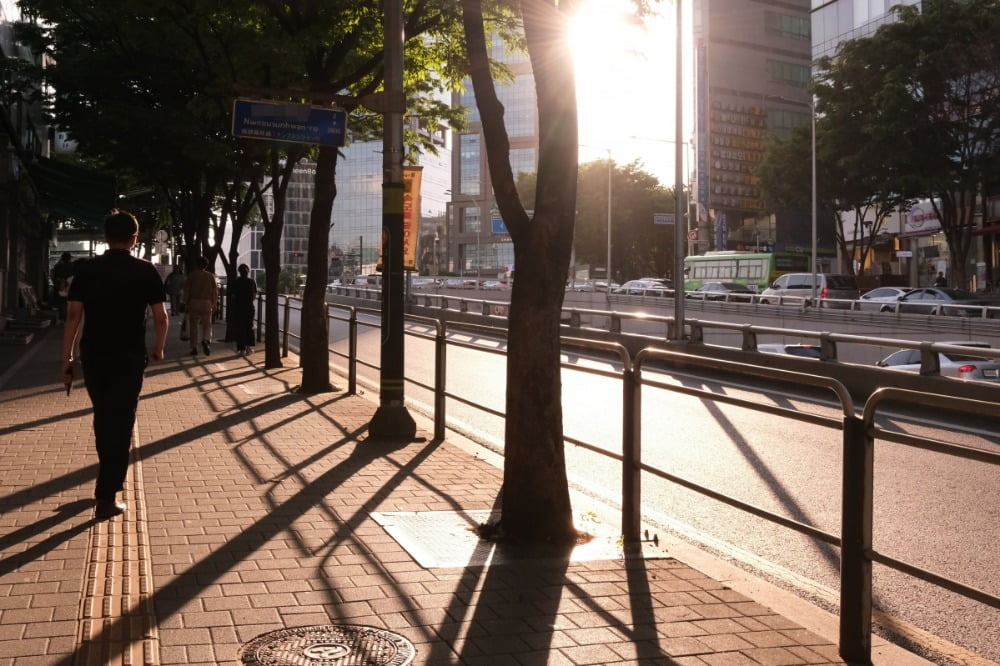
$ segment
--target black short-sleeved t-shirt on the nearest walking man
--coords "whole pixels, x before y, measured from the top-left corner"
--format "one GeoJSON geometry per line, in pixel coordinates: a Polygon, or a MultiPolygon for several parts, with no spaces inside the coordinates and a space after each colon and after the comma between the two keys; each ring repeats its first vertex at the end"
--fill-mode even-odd
{"type": "Polygon", "coordinates": [[[108,250],[81,262],[69,300],[83,303],[80,351],[88,356],[146,353],[146,308],[167,300],[160,274],[127,250],[108,250]]]}

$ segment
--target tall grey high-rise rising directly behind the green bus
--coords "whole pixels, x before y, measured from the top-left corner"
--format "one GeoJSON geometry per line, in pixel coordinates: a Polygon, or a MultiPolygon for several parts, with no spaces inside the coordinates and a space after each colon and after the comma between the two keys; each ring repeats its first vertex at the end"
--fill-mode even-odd
{"type": "MultiPolygon", "coordinates": [[[[810,253],[809,211],[763,214],[754,175],[769,137],[810,122],[809,9],[809,0],[695,2],[694,252],[810,253]]],[[[832,230],[818,240],[832,255],[832,230]]]]}

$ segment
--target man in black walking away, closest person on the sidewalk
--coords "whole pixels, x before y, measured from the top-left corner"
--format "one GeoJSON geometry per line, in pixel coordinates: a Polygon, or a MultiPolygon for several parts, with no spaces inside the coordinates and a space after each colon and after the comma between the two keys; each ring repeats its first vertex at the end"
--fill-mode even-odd
{"type": "Polygon", "coordinates": [[[123,513],[117,494],[125,485],[135,412],[147,363],[163,360],[167,339],[167,300],[160,274],[148,261],[130,254],[139,224],[123,210],[104,221],[108,250],[77,266],[70,284],[63,334],[62,380],[73,383],[73,348],[81,325],[83,381],[94,407],[98,472],[94,497],[97,517],[123,513]],[[146,308],[153,315],[153,345],[146,351],[146,308]]]}

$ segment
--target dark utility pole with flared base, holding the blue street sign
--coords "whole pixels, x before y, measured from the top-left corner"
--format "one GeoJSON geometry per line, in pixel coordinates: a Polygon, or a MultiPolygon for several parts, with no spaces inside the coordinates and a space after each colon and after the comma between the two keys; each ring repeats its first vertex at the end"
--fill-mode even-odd
{"type": "Polygon", "coordinates": [[[403,0],[384,0],[385,108],[382,116],[382,367],[376,438],[412,439],[417,424],[403,401],[403,0]]]}

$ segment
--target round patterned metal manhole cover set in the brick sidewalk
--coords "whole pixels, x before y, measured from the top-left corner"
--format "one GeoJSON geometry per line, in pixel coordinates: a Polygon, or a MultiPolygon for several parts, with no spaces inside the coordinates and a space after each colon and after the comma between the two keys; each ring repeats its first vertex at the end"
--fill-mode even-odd
{"type": "Polygon", "coordinates": [[[279,629],[240,651],[243,663],[255,666],[406,666],[415,653],[399,634],[356,624],[279,629]]]}

